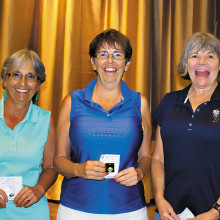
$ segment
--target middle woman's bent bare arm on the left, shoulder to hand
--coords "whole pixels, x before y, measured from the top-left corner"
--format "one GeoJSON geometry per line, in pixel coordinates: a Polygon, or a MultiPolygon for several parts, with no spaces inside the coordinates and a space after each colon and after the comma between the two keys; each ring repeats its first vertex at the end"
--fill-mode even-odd
{"type": "Polygon", "coordinates": [[[103,180],[107,174],[104,163],[100,161],[74,163],[70,160],[70,111],[71,96],[68,95],[62,103],[58,118],[54,166],[60,174],[68,178],[78,176],[84,179],[103,180]]]}

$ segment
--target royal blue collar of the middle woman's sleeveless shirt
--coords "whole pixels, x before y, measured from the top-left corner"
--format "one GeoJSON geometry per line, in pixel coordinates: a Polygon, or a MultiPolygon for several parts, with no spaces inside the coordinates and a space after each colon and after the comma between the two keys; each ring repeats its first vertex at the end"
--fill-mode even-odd
{"type": "MultiPolygon", "coordinates": [[[[84,96],[84,100],[91,102],[92,101],[92,93],[93,90],[95,88],[95,85],[97,83],[97,78],[95,78],[94,80],[92,80],[86,87],[85,89],[85,96],[84,96]]],[[[128,88],[127,84],[122,80],[121,82],[121,91],[122,91],[122,101],[126,102],[128,100],[131,100],[131,93],[130,93],[130,89],[128,88]]]]}

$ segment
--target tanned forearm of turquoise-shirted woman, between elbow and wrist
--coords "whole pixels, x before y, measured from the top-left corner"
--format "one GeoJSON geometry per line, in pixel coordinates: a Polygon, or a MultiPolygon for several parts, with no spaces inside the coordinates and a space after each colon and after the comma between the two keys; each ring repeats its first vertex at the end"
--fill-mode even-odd
{"type": "Polygon", "coordinates": [[[36,186],[40,187],[43,194],[54,184],[57,179],[57,172],[54,168],[46,168],[42,171],[36,186]]]}

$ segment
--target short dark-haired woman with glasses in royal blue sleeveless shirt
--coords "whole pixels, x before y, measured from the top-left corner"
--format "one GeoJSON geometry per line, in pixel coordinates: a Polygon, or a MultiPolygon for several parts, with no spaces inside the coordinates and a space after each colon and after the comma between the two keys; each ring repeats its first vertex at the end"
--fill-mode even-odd
{"type": "Polygon", "coordinates": [[[89,53],[97,78],[67,95],[57,125],[55,168],[64,175],[58,219],[148,219],[142,178],[149,170],[147,99],[122,80],[127,37],[110,29],[89,53]]]}

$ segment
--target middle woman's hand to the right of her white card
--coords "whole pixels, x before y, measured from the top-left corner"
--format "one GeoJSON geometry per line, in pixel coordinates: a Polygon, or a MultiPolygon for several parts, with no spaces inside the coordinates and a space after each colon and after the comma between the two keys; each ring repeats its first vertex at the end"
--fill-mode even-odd
{"type": "Polygon", "coordinates": [[[117,182],[121,185],[134,186],[142,179],[142,177],[138,173],[138,169],[129,167],[119,172],[113,179],[114,182],[117,182]]]}

